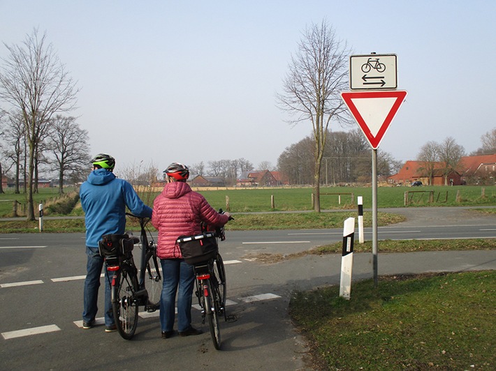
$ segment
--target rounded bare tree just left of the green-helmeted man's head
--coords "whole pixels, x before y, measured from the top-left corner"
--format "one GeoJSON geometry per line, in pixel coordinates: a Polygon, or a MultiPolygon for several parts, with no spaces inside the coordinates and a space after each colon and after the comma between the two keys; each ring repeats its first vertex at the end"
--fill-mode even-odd
{"type": "Polygon", "coordinates": [[[83,172],[89,166],[88,132],[82,130],[74,117],[57,114],[51,120],[48,149],[53,154],[59,174],[59,194],[64,193],[64,175],[83,172]]]}

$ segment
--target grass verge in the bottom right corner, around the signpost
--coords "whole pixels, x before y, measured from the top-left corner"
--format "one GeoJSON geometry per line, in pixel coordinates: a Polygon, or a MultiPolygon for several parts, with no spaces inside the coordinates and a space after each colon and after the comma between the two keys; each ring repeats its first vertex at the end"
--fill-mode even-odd
{"type": "Polygon", "coordinates": [[[382,277],[296,292],[318,370],[494,370],[496,271],[382,277]]]}

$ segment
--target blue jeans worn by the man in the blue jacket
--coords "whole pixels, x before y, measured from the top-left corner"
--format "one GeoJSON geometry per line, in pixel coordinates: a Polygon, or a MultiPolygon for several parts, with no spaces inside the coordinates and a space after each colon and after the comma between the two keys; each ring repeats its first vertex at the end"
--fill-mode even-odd
{"type": "MultiPolygon", "coordinates": [[[[86,264],[86,280],[84,294],[84,310],[82,311],[82,320],[85,322],[94,321],[96,312],[99,308],[96,305],[99,297],[100,275],[103,268],[103,257],[99,254],[98,248],[89,248],[86,246],[86,255],[88,258],[86,264]]],[[[113,275],[113,273],[110,273],[113,275]]],[[[112,279],[112,278],[110,278],[112,279]]],[[[112,313],[112,302],[110,301],[110,279],[108,278],[107,269],[105,269],[105,326],[115,324],[112,313]]]]}

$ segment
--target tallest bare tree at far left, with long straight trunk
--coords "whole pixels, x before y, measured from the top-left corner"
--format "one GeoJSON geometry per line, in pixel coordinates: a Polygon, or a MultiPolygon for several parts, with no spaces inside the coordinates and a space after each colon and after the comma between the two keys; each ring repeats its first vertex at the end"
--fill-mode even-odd
{"type": "Polygon", "coordinates": [[[27,35],[22,45],[3,45],[10,56],[3,59],[0,70],[0,98],[22,112],[29,146],[27,220],[34,220],[33,183],[38,144],[52,116],[74,108],[78,89],[52,44],[47,45],[46,35],[38,36],[38,29],[27,35]]]}

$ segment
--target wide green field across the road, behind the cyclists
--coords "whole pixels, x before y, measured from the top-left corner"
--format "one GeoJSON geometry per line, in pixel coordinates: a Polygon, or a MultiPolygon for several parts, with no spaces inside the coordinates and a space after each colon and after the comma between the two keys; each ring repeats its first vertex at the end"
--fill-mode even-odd
{"type": "MultiPolygon", "coordinates": [[[[66,189],[69,193],[74,189],[66,189]]],[[[53,203],[58,197],[57,188],[41,188],[34,194],[37,206],[40,202],[53,203]]],[[[496,187],[460,185],[453,187],[379,187],[377,206],[379,208],[403,207],[405,192],[408,194],[409,207],[416,206],[494,206],[496,187]],[[432,191],[432,202],[429,202],[432,191]],[[458,199],[457,199],[458,196],[458,199]]],[[[228,209],[234,213],[261,211],[307,211],[312,210],[312,188],[271,188],[271,189],[219,189],[200,190],[207,201],[215,208],[228,209]],[[272,200],[274,207],[272,208],[272,200]]],[[[140,192],[140,197],[150,206],[158,192],[140,192]]],[[[321,209],[355,209],[358,196],[363,197],[363,207],[372,207],[372,188],[370,187],[328,187],[321,188],[321,209]]],[[[0,217],[13,213],[13,202],[26,204],[24,193],[14,194],[6,190],[0,194],[0,217]]],[[[22,205],[18,212],[22,213],[22,205]]],[[[25,208],[25,206],[24,206],[25,208]]],[[[73,215],[82,215],[75,211],[73,215]]]]}

